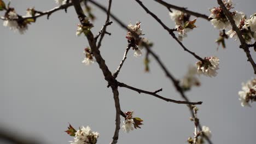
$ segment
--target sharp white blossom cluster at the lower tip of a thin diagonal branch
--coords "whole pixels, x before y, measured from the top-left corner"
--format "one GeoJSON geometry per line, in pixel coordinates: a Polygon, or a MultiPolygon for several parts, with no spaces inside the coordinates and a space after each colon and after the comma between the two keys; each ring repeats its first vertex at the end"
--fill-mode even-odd
{"type": "Polygon", "coordinates": [[[205,62],[197,62],[197,73],[206,76],[216,76],[219,69],[219,58],[218,57],[206,57],[205,62]]]}

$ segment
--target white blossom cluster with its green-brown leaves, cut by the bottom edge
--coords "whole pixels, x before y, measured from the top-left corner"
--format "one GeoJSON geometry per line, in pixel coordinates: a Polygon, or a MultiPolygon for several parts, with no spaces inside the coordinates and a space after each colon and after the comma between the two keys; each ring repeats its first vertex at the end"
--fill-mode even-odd
{"type": "Polygon", "coordinates": [[[68,130],[65,132],[70,136],[74,136],[74,141],[69,141],[71,144],[95,144],[100,135],[98,132],[91,131],[89,126],[75,130],[71,124],[69,124],[68,130]]]}

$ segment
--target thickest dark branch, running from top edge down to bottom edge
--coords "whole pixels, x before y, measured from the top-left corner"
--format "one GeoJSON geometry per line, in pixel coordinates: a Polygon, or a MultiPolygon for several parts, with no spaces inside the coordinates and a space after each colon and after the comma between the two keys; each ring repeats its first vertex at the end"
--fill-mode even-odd
{"type": "MultiPolygon", "coordinates": [[[[78,15],[78,19],[82,26],[85,26],[87,23],[85,23],[85,15],[84,12],[80,6],[79,0],[72,0],[72,3],[74,5],[75,11],[78,15]]],[[[117,81],[112,76],[111,72],[109,71],[107,65],[105,64],[104,59],[102,58],[100,54],[100,50],[96,46],[96,41],[94,38],[94,35],[91,33],[91,31],[86,32],[86,38],[88,39],[89,45],[91,47],[91,51],[94,54],[94,57],[102,70],[102,73],[105,77],[105,80],[109,83],[109,85],[112,88],[113,94],[114,94],[114,101],[115,101],[115,132],[113,136],[113,141],[111,143],[117,143],[118,141],[118,135],[120,130],[120,115],[121,115],[121,109],[120,109],[120,103],[119,103],[119,93],[118,93],[118,86],[117,81]]]]}

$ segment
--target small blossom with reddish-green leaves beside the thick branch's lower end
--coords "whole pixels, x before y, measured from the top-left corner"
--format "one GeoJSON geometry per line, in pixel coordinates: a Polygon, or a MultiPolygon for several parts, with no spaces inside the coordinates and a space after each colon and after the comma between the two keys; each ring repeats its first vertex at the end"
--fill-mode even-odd
{"type": "Polygon", "coordinates": [[[129,131],[133,130],[133,127],[135,129],[141,128],[139,125],[142,125],[141,122],[143,120],[141,118],[135,117],[133,118],[133,111],[127,111],[124,113],[125,114],[125,121],[123,122],[122,129],[124,130],[125,133],[129,133],[129,131]]]}

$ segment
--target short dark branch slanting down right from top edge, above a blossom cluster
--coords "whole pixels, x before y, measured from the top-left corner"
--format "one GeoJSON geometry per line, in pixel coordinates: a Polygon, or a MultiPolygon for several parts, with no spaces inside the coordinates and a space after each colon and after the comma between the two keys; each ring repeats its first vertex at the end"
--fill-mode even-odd
{"type": "Polygon", "coordinates": [[[166,3],[166,2],[164,2],[162,0],[154,0],[154,1],[164,5],[167,9],[176,9],[176,10],[179,10],[179,11],[183,11],[184,13],[187,13],[189,15],[194,15],[196,17],[201,17],[202,19],[206,19],[207,21],[211,20],[205,14],[196,13],[196,12],[188,10],[187,8],[184,8],[184,7],[177,7],[176,5],[172,5],[172,4],[166,3]]]}

